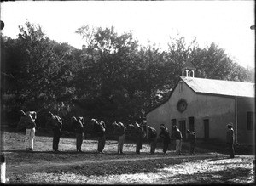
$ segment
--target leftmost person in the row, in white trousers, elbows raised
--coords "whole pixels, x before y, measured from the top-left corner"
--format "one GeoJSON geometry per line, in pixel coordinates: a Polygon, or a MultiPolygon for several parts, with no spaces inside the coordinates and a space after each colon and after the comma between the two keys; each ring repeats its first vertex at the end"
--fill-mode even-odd
{"type": "Polygon", "coordinates": [[[21,118],[17,125],[17,131],[20,131],[24,127],[26,128],[26,136],[25,136],[26,150],[33,151],[34,138],[35,138],[35,132],[36,132],[35,120],[37,119],[37,112],[27,111],[25,113],[23,110],[19,110],[19,114],[21,118]]]}

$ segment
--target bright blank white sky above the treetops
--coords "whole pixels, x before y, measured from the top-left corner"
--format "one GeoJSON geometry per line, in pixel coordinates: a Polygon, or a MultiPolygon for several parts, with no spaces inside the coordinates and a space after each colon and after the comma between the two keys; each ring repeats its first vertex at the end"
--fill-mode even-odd
{"type": "Polygon", "coordinates": [[[255,66],[254,1],[19,1],[1,3],[4,36],[17,38],[26,20],[41,25],[57,42],[82,48],[75,33],[83,25],[114,26],[122,34],[132,31],[143,44],[162,49],[177,33],[201,48],[212,42],[224,48],[238,65],[255,66]]]}

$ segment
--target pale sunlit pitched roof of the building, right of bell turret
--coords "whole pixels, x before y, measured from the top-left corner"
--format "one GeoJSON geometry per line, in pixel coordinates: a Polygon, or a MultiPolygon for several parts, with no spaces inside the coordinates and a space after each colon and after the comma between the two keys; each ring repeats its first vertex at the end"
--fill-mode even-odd
{"type": "Polygon", "coordinates": [[[209,93],[231,97],[254,98],[255,84],[195,77],[181,77],[195,93],[209,93]]]}

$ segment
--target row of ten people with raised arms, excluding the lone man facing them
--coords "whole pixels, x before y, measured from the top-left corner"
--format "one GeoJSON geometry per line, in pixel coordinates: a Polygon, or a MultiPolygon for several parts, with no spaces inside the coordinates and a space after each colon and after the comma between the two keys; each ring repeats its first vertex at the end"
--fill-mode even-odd
{"type": "MultiPolygon", "coordinates": [[[[21,130],[26,128],[26,137],[25,144],[26,150],[33,151],[33,140],[35,137],[35,127],[37,119],[37,113],[35,111],[27,111],[19,110],[20,113],[20,121],[17,125],[17,130],[21,130]]],[[[52,149],[56,152],[59,151],[59,142],[61,138],[61,129],[62,129],[62,120],[60,116],[54,115],[49,112],[46,115],[47,122],[45,127],[50,128],[53,132],[53,146],[52,149]]],[[[76,134],[76,149],[78,152],[82,152],[81,146],[83,144],[84,139],[84,118],[81,116],[71,118],[72,126],[74,132],[76,134]]],[[[106,143],[106,125],[104,121],[91,119],[92,124],[92,132],[96,134],[98,137],[98,146],[97,152],[104,153],[103,149],[106,143]]],[[[129,129],[131,131],[132,136],[136,139],[136,153],[140,154],[140,150],[142,149],[143,138],[148,138],[150,142],[150,154],[154,154],[156,144],[157,144],[157,132],[154,127],[147,127],[147,131],[143,129],[137,122],[134,124],[129,124],[126,128],[122,122],[114,121],[112,123],[113,134],[118,136],[118,154],[124,154],[123,147],[125,144],[125,130],[129,129]]],[[[190,154],[194,154],[195,152],[195,132],[190,132],[187,130],[189,134],[190,141],[190,154]]],[[[171,139],[176,141],[176,153],[181,154],[182,149],[182,133],[179,131],[177,126],[172,127],[172,135],[170,136],[168,132],[168,128],[165,127],[165,124],[160,125],[160,134],[159,137],[162,138],[163,141],[163,153],[166,154],[168,145],[171,143],[171,139]]]]}

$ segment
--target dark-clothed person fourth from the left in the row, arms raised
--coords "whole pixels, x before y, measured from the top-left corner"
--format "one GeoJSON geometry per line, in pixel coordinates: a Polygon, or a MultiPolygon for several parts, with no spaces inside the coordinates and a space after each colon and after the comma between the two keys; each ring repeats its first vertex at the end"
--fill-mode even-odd
{"type": "Polygon", "coordinates": [[[98,153],[102,153],[103,149],[105,147],[105,143],[106,143],[106,125],[104,121],[97,121],[96,119],[91,119],[91,121],[93,121],[93,132],[96,133],[97,137],[98,137],[98,153]]]}

